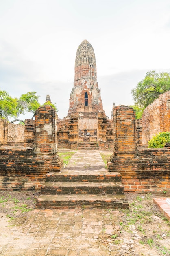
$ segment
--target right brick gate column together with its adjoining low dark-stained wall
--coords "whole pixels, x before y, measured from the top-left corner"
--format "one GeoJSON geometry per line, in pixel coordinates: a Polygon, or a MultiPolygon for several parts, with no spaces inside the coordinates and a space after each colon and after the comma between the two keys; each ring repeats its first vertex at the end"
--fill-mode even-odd
{"type": "Polygon", "coordinates": [[[126,192],[170,193],[170,149],[137,148],[132,109],[118,106],[113,115],[114,148],[108,170],[122,174],[126,192]]]}

